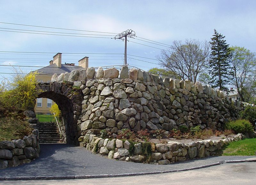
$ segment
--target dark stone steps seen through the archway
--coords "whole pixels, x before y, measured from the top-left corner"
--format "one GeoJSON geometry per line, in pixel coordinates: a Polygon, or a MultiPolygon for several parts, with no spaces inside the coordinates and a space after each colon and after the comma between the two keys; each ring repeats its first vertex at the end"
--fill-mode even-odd
{"type": "Polygon", "coordinates": [[[60,135],[55,123],[38,122],[37,125],[39,127],[39,143],[60,142],[60,135]]]}

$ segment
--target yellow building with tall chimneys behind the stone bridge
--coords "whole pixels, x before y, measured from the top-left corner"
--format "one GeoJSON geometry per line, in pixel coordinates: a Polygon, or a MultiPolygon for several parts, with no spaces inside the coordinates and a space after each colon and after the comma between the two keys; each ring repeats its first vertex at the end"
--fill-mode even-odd
{"type": "MultiPolygon", "coordinates": [[[[49,63],[49,66],[43,67],[41,69],[38,69],[37,72],[39,73],[36,76],[37,82],[41,83],[49,83],[52,80],[52,75],[57,73],[70,73],[71,71],[75,69],[81,69],[81,68],[88,68],[88,59],[89,57],[84,57],[78,61],[78,66],[75,66],[74,63],[65,63],[61,64],[61,54],[57,53],[53,56],[53,60],[51,60],[49,63]]],[[[36,106],[35,111],[36,112],[50,112],[51,106],[55,104],[51,99],[48,98],[37,98],[36,99],[36,106]]]]}

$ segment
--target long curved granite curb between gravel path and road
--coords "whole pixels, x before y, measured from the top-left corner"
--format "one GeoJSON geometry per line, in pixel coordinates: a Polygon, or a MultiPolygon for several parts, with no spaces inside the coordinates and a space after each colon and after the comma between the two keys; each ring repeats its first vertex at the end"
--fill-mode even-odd
{"type": "MultiPolygon", "coordinates": [[[[256,160],[256,159],[255,159],[256,160]]],[[[169,170],[158,172],[145,172],[145,173],[121,173],[121,174],[102,174],[102,175],[70,175],[70,176],[35,176],[35,177],[0,177],[0,181],[19,181],[19,180],[60,180],[60,179],[92,179],[92,178],[108,178],[108,177],[125,177],[125,176],[138,176],[138,175],[150,175],[160,173],[174,173],[189,170],[196,170],[201,168],[207,168],[223,164],[223,161],[218,163],[212,163],[209,165],[197,166],[193,168],[185,168],[181,170],[169,170]]]]}

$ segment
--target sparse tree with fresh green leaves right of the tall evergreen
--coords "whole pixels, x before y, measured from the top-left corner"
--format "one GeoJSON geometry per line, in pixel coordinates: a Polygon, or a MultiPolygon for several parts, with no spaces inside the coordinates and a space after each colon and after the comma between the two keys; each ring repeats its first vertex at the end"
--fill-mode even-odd
{"type": "MultiPolygon", "coordinates": [[[[250,81],[253,78],[253,72],[255,71],[255,53],[244,47],[232,46],[231,51],[231,67],[232,76],[231,83],[236,86],[237,92],[241,97],[241,101],[246,101],[248,97],[248,91],[253,84],[250,81]],[[249,83],[248,83],[249,82],[249,83]]],[[[249,99],[247,99],[248,101],[249,99]]]]}

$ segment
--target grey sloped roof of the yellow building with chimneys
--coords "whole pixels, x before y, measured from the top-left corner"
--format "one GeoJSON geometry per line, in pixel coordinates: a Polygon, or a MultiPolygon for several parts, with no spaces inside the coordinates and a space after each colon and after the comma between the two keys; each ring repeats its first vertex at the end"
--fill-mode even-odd
{"type": "Polygon", "coordinates": [[[75,69],[82,69],[81,66],[71,66],[67,64],[61,64],[61,67],[57,67],[56,64],[52,64],[50,66],[43,67],[41,69],[38,69],[37,72],[40,74],[50,74],[53,75],[55,73],[61,74],[61,73],[70,73],[71,71],[75,69]]]}

